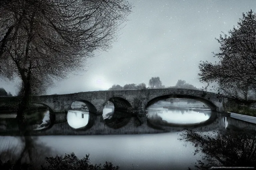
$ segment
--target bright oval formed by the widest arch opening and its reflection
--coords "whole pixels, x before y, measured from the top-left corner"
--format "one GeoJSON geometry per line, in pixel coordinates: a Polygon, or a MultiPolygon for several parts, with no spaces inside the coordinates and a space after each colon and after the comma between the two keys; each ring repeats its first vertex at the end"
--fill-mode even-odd
{"type": "Polygon", "coordinates": [[[195,99],[167,98],[147,107],[151,123],[166,126],[190,126],[212,119],[211,109],[195,99]]]}

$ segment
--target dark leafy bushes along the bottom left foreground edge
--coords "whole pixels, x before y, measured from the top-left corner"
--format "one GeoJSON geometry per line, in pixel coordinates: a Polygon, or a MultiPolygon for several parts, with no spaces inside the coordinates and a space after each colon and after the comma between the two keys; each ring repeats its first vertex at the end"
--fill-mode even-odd
{"type": "Polygon", "coordinates": [[[46,157],[46,165],[35,165],[32,163],[20,163],[19,161],[0,160],[1,170],[118,170],[119,166],[114,166],[111,162],[93,165],[90,163],[89,154],[79,159],[74,153],[65,156],[46,157]]]}

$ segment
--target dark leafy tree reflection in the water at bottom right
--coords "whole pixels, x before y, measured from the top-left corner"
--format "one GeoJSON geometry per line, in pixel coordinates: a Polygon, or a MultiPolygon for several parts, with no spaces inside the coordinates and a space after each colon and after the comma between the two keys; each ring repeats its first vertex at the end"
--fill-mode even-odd
{"type": "MultiPolygon", "coordinates": [[[[194,155],[203,153],[197,160],[197,169],[212,166],[256,166],[256,132],[223,130],[204,134],[194,130],[184,130],[179,140],[190,142],[196,147],[194,155]]],[[[189,168],[190,169],[190,168],[189,168]]]]}

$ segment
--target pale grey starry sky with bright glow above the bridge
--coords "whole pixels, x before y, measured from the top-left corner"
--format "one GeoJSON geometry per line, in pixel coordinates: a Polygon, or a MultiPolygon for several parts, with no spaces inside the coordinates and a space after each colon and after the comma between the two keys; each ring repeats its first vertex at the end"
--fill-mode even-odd
{"type": "MultiPolygon", "coordinates": [[[[146,83],[159,76],[163,85],[178,79],[200,88],[200,60],[215,61],[215,40],[237,25],[243,12],[256,12],[255,0],[129,0],[134,8],[120,39],[108,52],[90,58],[87,72],[55,82],[48,94],[107,90],[112,84],[146,83]]],[[[0,82],[15,94],[15,82],[0,82]]]]}

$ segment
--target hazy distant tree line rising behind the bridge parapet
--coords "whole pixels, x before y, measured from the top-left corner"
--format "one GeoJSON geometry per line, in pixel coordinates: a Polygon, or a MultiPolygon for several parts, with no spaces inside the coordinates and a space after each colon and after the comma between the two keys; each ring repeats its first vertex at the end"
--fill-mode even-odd
{"type": "Polygon", "coordinates": [[[164,88],[181,88],[181,89],[193,89],[193,90],[202,90],[199,88],[196,88],[195,86],[186,83],[185,80],[178,80],[175,86],[169,86],[165,87],[165,85],[162,85],[162,81],[159,77],[152,77],[149,80],[148,87],[146,87],[145,83],[140,84],[125,84],[123,87],[119,84],[112,85],[111,88],[108,90],[128,90],[128,89],[134,89],[134,90],[142,90],[142,89],[164,89],[164,88]]]}

